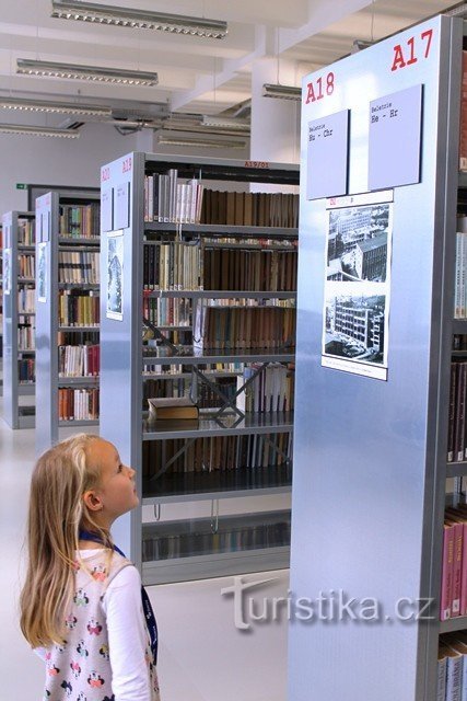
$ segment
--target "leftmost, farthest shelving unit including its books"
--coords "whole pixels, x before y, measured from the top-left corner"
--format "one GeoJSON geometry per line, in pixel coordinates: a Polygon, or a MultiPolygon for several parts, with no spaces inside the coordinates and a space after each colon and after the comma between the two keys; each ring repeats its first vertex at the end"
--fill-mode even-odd
{"type": "Polygon", "coordinates": [[[34,404],[20,400],[35,393],[34,220],[31,211],[3,215],[3,418],[11,428],[34,428],[34,404]]]}

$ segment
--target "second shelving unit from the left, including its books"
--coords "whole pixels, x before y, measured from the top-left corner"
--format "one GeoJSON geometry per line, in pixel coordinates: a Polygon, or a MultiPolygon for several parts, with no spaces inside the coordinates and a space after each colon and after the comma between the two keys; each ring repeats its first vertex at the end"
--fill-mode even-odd
{"type": "Polygon", "coordinates": [[[36,199],[38,452],[58,440],[60,427],[98,425],[98,374],[87,366],[83,372],[82,363],[63,365],[60,353],[98,344],[98,207],[91,188],[36,199]]]}

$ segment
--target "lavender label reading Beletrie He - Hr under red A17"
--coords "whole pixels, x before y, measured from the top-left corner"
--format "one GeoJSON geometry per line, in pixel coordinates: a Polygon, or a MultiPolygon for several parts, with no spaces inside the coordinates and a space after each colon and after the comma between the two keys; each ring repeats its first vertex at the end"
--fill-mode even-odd
{"type": "Polygon", "coordinates": [[[422,85],[370,103],[369,189],[420,182],[422,85]]]}

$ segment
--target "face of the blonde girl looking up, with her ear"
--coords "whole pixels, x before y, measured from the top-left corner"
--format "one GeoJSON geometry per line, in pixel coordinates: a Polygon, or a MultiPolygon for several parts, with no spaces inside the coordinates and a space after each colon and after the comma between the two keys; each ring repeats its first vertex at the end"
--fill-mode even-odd
{"type": "Polygon", "coordinates": [[[120,456],[112,443],[100,438],[89,447],[89,458],[101,467],[101,484],[93,490],[95,516],[109,528],[118,516],[138,506],[135,470],[121,464],[120,456]]]}

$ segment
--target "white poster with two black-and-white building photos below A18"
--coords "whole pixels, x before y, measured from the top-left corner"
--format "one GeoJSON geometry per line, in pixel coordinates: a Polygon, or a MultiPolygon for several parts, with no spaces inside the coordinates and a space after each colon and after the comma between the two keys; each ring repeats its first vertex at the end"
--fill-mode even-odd
{"type": "Polygon", "coordinates": [[[387,380],[393,191],[328,200],[322,365],[387,380]]]}

